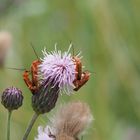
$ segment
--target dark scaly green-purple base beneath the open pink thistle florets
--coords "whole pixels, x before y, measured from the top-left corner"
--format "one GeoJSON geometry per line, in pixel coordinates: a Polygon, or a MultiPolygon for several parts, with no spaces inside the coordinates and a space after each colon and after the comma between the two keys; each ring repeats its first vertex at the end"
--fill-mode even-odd
{"type": "Polygon", "coordinates": [[[55,107],[59,95],[59,87],[54,84],[44,84],[40,87],[38,93],[32,96],[32,107],[37,114],[44,114],[55,107]]]}

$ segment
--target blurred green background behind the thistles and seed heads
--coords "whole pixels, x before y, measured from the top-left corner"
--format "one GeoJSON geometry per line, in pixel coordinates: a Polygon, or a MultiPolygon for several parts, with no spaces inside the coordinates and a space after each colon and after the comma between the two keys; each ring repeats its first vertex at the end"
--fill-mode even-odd
{"type": "MultiPolygon", "coordinates": [[[[0,0],[0,30],[12,34],[5,67],[30,69],[44,46],[82,51],[89,82],[59,104],[82,100],[89,104],[94,123],[84,140],[140,139],[140,1],[139,0],[0,0]]],[[[31,93],[22,72],[0,69],[0,93],[9,86],[22,89],[24,104],[12,115],[11,140],[21,140],[33,114],[31,93]]],[[[53,113],[52,113],[53,114],[53,113]]],[[[0,140],[6,139],[7,111],[0,105],[0,140]]],[[[37,135],[37,120],[29,140],[37,135]]]]}

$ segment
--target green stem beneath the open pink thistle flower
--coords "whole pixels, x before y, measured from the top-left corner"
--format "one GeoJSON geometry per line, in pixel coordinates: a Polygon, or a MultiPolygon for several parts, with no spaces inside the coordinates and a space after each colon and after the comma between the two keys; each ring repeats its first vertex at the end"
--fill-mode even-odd
{"type": "Polygon", "coordinates": [[[31,129],[32,129],[32,127],[33,127],[33,125],[34,125],[36,119],[38,118],[38,116],[39,116],[39,115],[38,115],[37,113],[35,113],[35,114],[33,115],[32,119],[31,119],[31,121],[30,121],[30,123],[29,123],[29,125],[28,125],[28,127],[27,127],[27,129],[26,129],[26,131],[25,131],[25,134],[24,134],[24,136],[23,136],[23,140],[27,140],[27,138],[28,138],[28,136],[29,136],[29,133],[31,132],[31,129]]]}

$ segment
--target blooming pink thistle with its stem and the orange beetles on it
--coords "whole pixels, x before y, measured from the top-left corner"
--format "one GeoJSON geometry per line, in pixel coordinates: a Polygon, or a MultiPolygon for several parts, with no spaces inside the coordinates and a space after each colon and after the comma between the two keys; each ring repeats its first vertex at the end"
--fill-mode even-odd
{"type": "Polygon", "coordinates": [[[69,53],[71,46],[72,44],[64,53],[57,50],[56,45],[55,51],[49,53],[44,50],[44,58],[32,63],[32,82],[28,78],[29,73],[24,72],[24,81],[33,93],[32,107],[35,114],[23,140],[27,139],[37,117],[55,107],[60,92],[70,95],[73,90],[79,90],[88,81],[90,74],[82,72],[82,64],[78,55],[74,57],[69,53]],[[38,82],[40,83],[36,85],[38,82]]]}

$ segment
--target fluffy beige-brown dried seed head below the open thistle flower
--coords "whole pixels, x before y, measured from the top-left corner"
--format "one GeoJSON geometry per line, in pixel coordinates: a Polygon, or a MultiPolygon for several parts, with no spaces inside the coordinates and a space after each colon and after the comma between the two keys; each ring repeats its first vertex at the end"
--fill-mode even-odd
{"type": "Polygon", "coordinates": [[[76,138],[89,126],[92,115],[86,103],[71,102],[62,106],[52,121],[56,137],[63,133],[76,138]]]}

